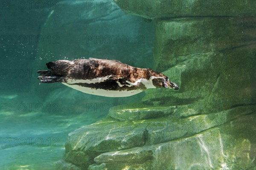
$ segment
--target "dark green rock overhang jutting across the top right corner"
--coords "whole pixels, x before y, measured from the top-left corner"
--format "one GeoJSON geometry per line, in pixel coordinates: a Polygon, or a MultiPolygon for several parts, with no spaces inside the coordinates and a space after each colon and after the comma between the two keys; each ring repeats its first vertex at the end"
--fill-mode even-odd
{"type": "Polygon", "coordinates": [[[252,0],[114,0],[128,14],[148,19],[255,14],[252,0]],[[254,13],[253,13],[254,12],[254,13]]]}

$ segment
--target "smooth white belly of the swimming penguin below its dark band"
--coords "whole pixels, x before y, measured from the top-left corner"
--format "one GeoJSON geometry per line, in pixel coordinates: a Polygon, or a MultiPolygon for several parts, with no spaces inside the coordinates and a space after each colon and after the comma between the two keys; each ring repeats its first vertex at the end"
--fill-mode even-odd
{"type": "Polygon", "coordinates": [[[84,86],[79,86],[76,84],[67,84],[67,83],[62,83],[65,86],[71,87],[72,89],[76,89],[80,92],[84,92],[87,94],[91,95],[99,95],[99,96],[105,96],[105,97],[128,97],[131,95],[136,95],[140,92],[143,92],[143,90],[137,89],[137,90],[122,90],[122,91],[115,91],[115,90],[105,90],[105,89],[93,89],[90,87],[84,87],[84,86]]]}

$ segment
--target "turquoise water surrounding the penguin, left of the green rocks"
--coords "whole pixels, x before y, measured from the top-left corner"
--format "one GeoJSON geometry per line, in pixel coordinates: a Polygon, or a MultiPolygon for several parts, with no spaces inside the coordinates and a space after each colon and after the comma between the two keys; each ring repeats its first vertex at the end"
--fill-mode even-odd
{"type": "Polygon", "coordinates": [[[137,101],[143,96],[105,98],[87,95],[62,84],[39,85],[36,71],[46,69],[45,63],[49,61],[61,59],[95,57],[151,67],[152,57],[142,63],[142,59],[134,61],[134,54],[152,56],[153,24],[143,26],[140,24],[144,23],[143,19],[126,16],[120,9],[114,9],[116,14],[113,12],[113,16],[109,16],[112,21],[104,18],[110,10],[98,10],[98,14],[91,16],[89,13],[93,9],[80,7],[80,2],[33,1],[30,6],[25,1],[1,1],[1,170],[54,169],[56,161],[62,159],[65,152],[68,133],[106,117],[110,107],[137,101]],[[54,15],[63,17],[57,19],[55,26],[58,29],[54,26],[56,21],[51,20],[54,15]],[[118,15],[126,20],[118,20],[118,15]],[[94,22],[93,19],[102,20],[102,24],[107,26],[97,26],[99,21],[94,22]],[[122,26],[134,21],[140,24],[134,30],[122,26]],[[92,26],[84,30],[87,24],[92,26]],[[148,25],[149,35],[145,40],[140,29],[148,25]],[[74,29],[72,32],[75,34],[81,29],[81,34],[68,34],[63,26],[74,29]],[[99,28],[93,33],[96,27],[99,28]],[[96,38],[94,36],[99,37],[99,42],[86,41],[86,38],[96,38]],[[131,43],[120,43],[119,36],[124,41],[128,37],[131,43]],[[108,43],[109,38],[112,43],[108,43]],[[84,45],[80,43],[81,39],[84,39],[84,45]],[[124,45],[129,49],[139,46],[143,50],[138,49],[123,58],[122,55],[130,53],[120,49],[124,45]]]}

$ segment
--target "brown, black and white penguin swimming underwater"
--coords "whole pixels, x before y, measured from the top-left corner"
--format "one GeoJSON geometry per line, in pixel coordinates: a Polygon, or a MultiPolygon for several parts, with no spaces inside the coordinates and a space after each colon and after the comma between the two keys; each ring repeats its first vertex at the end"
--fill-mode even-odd
{"type": "Polygon", "coordinates": [[[38,70],[38,79],[42,83],[60,82],[92,95],[127,97],[150,88],[179,89],[160,72],[136,68],[116,60],[59,60],[46,65],[51,70],[38,70]]]}

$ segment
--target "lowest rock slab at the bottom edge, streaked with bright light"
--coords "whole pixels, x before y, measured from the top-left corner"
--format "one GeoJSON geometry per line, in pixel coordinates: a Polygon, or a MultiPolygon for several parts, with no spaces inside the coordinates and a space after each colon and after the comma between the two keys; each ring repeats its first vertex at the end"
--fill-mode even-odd
{"type": "Polygon", "coordinates": [[[213,128],[192,137],[157,145],[102,153],[94,159],[96,164],[90,165],[88,169],[218,169],[225,159],[221,140],[219,129],[213,128]]]}

